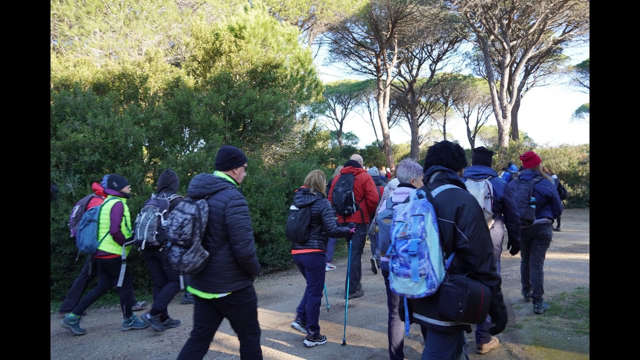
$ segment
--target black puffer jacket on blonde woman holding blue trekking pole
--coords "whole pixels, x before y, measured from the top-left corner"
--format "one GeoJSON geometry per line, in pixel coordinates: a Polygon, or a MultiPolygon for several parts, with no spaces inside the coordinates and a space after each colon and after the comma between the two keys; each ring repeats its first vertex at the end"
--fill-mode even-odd
{"type": "Polygon", "coordinates": [[[309,239],[303,244],[291,244],[291,250],[326,251],[326,241],[329,237],[346,238],[349,235],[349,227],[336,225],[333,207],[323,193],[311,193],[309,188],[303,186],[296,190],[293,204],[297,208],[311,206],[311,220],[309,239]]]}

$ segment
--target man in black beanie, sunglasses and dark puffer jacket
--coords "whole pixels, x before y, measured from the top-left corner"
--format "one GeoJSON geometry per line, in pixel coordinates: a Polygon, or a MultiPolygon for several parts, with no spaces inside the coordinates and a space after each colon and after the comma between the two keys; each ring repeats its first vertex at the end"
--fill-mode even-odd
{"type": "Polygon", "coordinates": [[[207,198],[209,220],[202,246],[211,254],[207,266],[189,275],[194,295],[193,330],[177,360],[202,359],[224,318],[240,341],[240,358],[261,360],[258,298],[253,280],[260,274],[249,206],[239,186],[246,176],[246,155],[225,145],[216,154],[216,171],[198,174],[187,196],[207,198]]]}

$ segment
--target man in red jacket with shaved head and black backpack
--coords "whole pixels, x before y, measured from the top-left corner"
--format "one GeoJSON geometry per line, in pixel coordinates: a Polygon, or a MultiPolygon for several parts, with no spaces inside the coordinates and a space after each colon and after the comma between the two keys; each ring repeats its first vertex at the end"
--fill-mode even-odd
{"type": "MultiPolygon", "coordinates": [[[[362,251],[364,250],[367,235],[367,224],[371,222],[379,200],[376,184],[362,167],[363,164],[362,156],[353,154],[349,161],[344,163],[344,168],[340,170],[340,176],[333,178],[331,190],[329,191],[329,201],[332,203],[333,208],[339,208],[340,204],[334,204],[333,202],[335,184],[342,183],[345,180],[343,175],[353,175],[353,197],[355,197],[356,211],[349,215],[337,214],[340,226],[347,226],[349,222],[356,224],[356,232],[351,236],[351,268],[344,285],[346,293],[347,281],[349,282],[349,293],[346,294],[349,299],[364,295],[362,284],[360,284],[360,279],[362,279],[362,251]]],[[[347,243],[347,247],[349,247],[349,243],[347,243]]]]}

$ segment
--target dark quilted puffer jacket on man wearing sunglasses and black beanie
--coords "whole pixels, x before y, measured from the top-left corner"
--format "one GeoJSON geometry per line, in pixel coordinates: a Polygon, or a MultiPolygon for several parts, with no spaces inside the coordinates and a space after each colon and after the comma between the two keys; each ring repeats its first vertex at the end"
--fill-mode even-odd
{"type": "Polygon", "coordinates": [[[236,182],[217,171],[196,175],[187,189],[192,199],[209,195],[202,245],[211,256],[204,270],[189,275],[189,285],[214,294],[241,290],[260,274],[249,206],[236,182]]]}

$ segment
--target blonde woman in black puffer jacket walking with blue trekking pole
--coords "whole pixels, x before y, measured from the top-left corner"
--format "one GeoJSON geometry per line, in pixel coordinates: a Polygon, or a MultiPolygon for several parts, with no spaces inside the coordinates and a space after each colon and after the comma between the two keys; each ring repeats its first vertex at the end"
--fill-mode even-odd
{"type": "Polygon", "coordinates": [[[320,334],[320,304],[324,286],[324,267],[328,237],[346,238],[355,233],[355,227],[336,225],[333,208],[324,197],[326,176],[321,170],[313,170],[305,177],[305,184],[296,190],[293,204],[298,208],[311,207],[309,238],[303,244],[292,243],[291,254],[302,275],[307,279],[305,295],[296,309],[296,320],[291,327],[307,334],[304,344],[314,347],[326,343],[320,334]],[[309,205],[310,204],[310,205],[309,205]]]}

